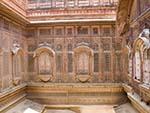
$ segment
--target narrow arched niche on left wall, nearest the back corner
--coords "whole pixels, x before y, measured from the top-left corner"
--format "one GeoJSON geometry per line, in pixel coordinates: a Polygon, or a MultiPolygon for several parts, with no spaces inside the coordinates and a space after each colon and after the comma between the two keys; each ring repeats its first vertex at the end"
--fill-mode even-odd
{"type": "Polygon", "coordinates": [[[24,50],[19,45],[14,45],[12,49],[12,82],[14,85],[18,85],[24,79],[24,60],[24,50]]]}

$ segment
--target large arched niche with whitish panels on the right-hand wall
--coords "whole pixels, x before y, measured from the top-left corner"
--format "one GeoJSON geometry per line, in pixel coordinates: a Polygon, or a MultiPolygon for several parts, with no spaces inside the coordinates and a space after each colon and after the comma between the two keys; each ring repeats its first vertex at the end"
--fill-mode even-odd
{"type": "Polygon", "coordinates": [[[144,53],[145,50],[150,48],[150,41],[145,37],[139,37],[134,41],[133,49],[134,49],[134,77],[136,79],[141,79],[147,74],[147,61],[145,61],[146,54],[144,53]],[[146,70],[145,70],[146,69],[146,70]],[[143,77],[142,77],[143,75],[143,77]]]}

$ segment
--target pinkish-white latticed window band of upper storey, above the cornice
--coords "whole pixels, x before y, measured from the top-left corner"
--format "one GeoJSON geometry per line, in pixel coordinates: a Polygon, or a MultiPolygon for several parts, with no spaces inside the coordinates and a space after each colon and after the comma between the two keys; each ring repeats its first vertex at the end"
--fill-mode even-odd
{"type": "Polygon", "coordinates": [[[29,9],[38,8],[64,8],[87,6],[114,6],[118,0],[28,0],[29,9]]]}

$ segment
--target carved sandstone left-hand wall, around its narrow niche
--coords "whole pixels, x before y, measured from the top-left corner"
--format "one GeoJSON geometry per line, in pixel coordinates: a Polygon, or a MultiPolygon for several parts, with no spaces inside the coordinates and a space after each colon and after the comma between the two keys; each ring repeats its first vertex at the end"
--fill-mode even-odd
{"type": "MultiPolygon", "coordinates": [[[[10,19],[0,15],[0,89],[7,89],[13,85],[15,70],[13,67],[13,44],[19,44],[26,51],[25,28],[10,19]]],[[[23,59],[27,61],[26,55],[23,59]]],[[[22,62],[22,61],[21,61],[22,62]]],[[[23,76],[20,82],[26,81],[26,66],[24,64],[23,76]]]]}

